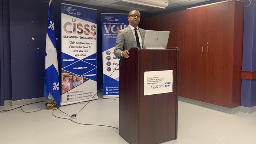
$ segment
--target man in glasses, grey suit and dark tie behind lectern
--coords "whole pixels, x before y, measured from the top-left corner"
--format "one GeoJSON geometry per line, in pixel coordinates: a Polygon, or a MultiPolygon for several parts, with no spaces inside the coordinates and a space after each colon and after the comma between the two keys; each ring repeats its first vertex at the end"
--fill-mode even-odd
{"type": "Polygon", "coordinates": [[[118,31],[116,38],[114,55],[118,58],[128,58],[129,49],[136,47],[142,48],[144,43],[146,30],[138,27],[138,24],[140,23],[140,12],[137,10],[130,11],[127,19],[129,21],[129,26],[118,31]]]}

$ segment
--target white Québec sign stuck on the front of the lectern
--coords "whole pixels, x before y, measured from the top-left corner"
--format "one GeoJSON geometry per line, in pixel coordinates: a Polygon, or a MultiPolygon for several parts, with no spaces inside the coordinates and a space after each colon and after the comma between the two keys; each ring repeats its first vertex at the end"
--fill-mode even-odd
{"type": "Polygon", "coordinates": [[[173,70],[144,72],[144,95],[173,92],[173,70]]]}

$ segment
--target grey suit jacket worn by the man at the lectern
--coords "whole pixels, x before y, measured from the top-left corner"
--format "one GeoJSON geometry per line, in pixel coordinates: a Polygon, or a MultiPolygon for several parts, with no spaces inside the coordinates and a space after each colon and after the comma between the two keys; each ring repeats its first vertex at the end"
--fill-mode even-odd
{"type": "MultiPolygon", "coordinates": [[[[142,45],[143,45],[146,30],[140,29],[139,27],[138,27],[138,30],[140,31],[140,36],[142,38],[142,45]]],[[[116,38],[116,46],[114,49],[114,55],[116,57],[120,58],[121,52],[123,52],[124,50],[129,50],[131,48],[136,48],[136,47],[137,47],[137,43],[132,33],[131,27],[128,26],[125,29],[118,31],[118,35],[116,38]]]]}

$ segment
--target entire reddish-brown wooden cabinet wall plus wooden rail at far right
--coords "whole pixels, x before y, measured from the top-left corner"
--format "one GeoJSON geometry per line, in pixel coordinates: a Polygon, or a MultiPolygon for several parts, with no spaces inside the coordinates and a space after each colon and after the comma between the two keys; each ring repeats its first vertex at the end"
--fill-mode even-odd
{"type": "Polygon", "coordinates": [[[240,106],[243,16],[240,1],[226,1],[141,22],[144,29],[170,31],[167,47],[179,48],[178,96],[240,106]]]}

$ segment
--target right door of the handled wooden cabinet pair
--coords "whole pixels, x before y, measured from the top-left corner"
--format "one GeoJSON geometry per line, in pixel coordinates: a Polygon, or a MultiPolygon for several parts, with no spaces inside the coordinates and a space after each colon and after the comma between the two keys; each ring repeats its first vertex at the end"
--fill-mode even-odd
{"type": "Polygon", "coordinates": [[[204,102],[231,107],[234,5],[233,1],[206,6],[208,49],[204,102]]]}

